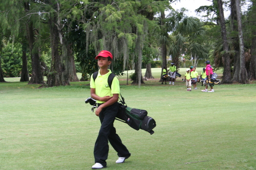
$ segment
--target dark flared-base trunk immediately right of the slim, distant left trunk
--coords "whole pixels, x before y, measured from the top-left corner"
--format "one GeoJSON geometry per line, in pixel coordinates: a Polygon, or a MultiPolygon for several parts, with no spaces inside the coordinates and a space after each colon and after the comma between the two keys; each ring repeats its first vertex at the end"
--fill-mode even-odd
{"type": "MultiPolygon", "coordinates": [[[[24,3],[25,12],[29,12],[29,2],[24,3]]],[[[34,38],[34,30],[33,30],[33,21],[29,20],[26,23],[27,30],[27,39],[29,43],[29,50],[31,55],[31,65],[32,65],[32,75],[28,84],[44,84],[44,77],[41,74],[41,65],[39,58],[38,48],[35,47],[35,38],[34,38]]]]}

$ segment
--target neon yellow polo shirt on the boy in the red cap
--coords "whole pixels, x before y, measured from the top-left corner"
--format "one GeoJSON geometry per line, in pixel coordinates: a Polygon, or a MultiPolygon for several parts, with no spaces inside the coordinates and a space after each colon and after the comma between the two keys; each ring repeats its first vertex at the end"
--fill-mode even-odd
{"type": "MultiPolygon", "coordinates": [[[[111,70],[108,69],[109,72],[105,75],[100,75],[100,71],[98,72],[97,78],[95,79],[95,82],[93,80],[93,75],[91,76],[91,81],[90,81],[90,87],[95,88],[95,93],[96,95],[103,97],[106,95],[113,96],[113,94],[120,94],[120,86],[119,86],[119,81],[116,77],[114,77],[111,88],[109,87],[108,84],[108,78],[109,75],[111,74],[111,70]]],[[[97,103],[105,103],[102,101],[97,101],[97,103]]]]}

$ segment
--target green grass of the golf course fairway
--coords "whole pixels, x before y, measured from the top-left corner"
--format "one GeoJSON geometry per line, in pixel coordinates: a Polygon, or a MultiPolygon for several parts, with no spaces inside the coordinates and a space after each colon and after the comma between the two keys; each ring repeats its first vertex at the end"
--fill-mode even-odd
{"type": "MultiPolygon", "coordinates": [[[[160,77],[158,68],[152,72],[160,77]]],[[[126,85],[125,78],[119,78],[125,102],[147,110],[157,127],[150,135],[116,121],[132,156],[116,164],[110,147],[107,169],[256,169],[254,82],[217,85],[216,92],[205,93],[201,85],[186,91],[181,78],[175,85],[145,81],[140,88],[126,85]]],[[[0,169],[91,169],[100,123],[84,104],[89,82],[38,89],[5,80],[10,83],[0,83],[0,169]]]]}

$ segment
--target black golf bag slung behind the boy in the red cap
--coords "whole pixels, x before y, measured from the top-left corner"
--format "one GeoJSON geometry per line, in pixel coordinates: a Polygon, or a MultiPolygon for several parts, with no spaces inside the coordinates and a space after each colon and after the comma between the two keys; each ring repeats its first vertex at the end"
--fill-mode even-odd
{"type": "Polygon", "coordinates": [[[137,131],[142,129],[149,132],[151,135],[154,133],[152,129],[156,127],[156,121],[154,118],[147,116],[146,110],[128,107],[124,102],[124,98],[120,99],[118,104],[119,110],[116,116],[117,120],[128,124],[131,128],[137,131]]]}

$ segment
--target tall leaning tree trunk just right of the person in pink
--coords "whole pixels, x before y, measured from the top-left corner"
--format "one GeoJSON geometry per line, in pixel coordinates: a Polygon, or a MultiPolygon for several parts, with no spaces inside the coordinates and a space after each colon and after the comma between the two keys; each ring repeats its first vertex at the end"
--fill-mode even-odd
{"type": "Polygon", "coordinates": [[[222,1],[218,0],[218,7],[219,7],[219,17],[220,17],[220,25],[221,25],[221,36],[223,41],[223,50],[225,51],[224,57],[224,70],[223,70],[223,77],[222,77],[222,84],[223,83],[232,83],[231,82],[231,69],[230,69],[230,56],[228,54],[229,47],[227,41],[227,32],[225,26],[225,18],[223,12],[222,1]]]}

